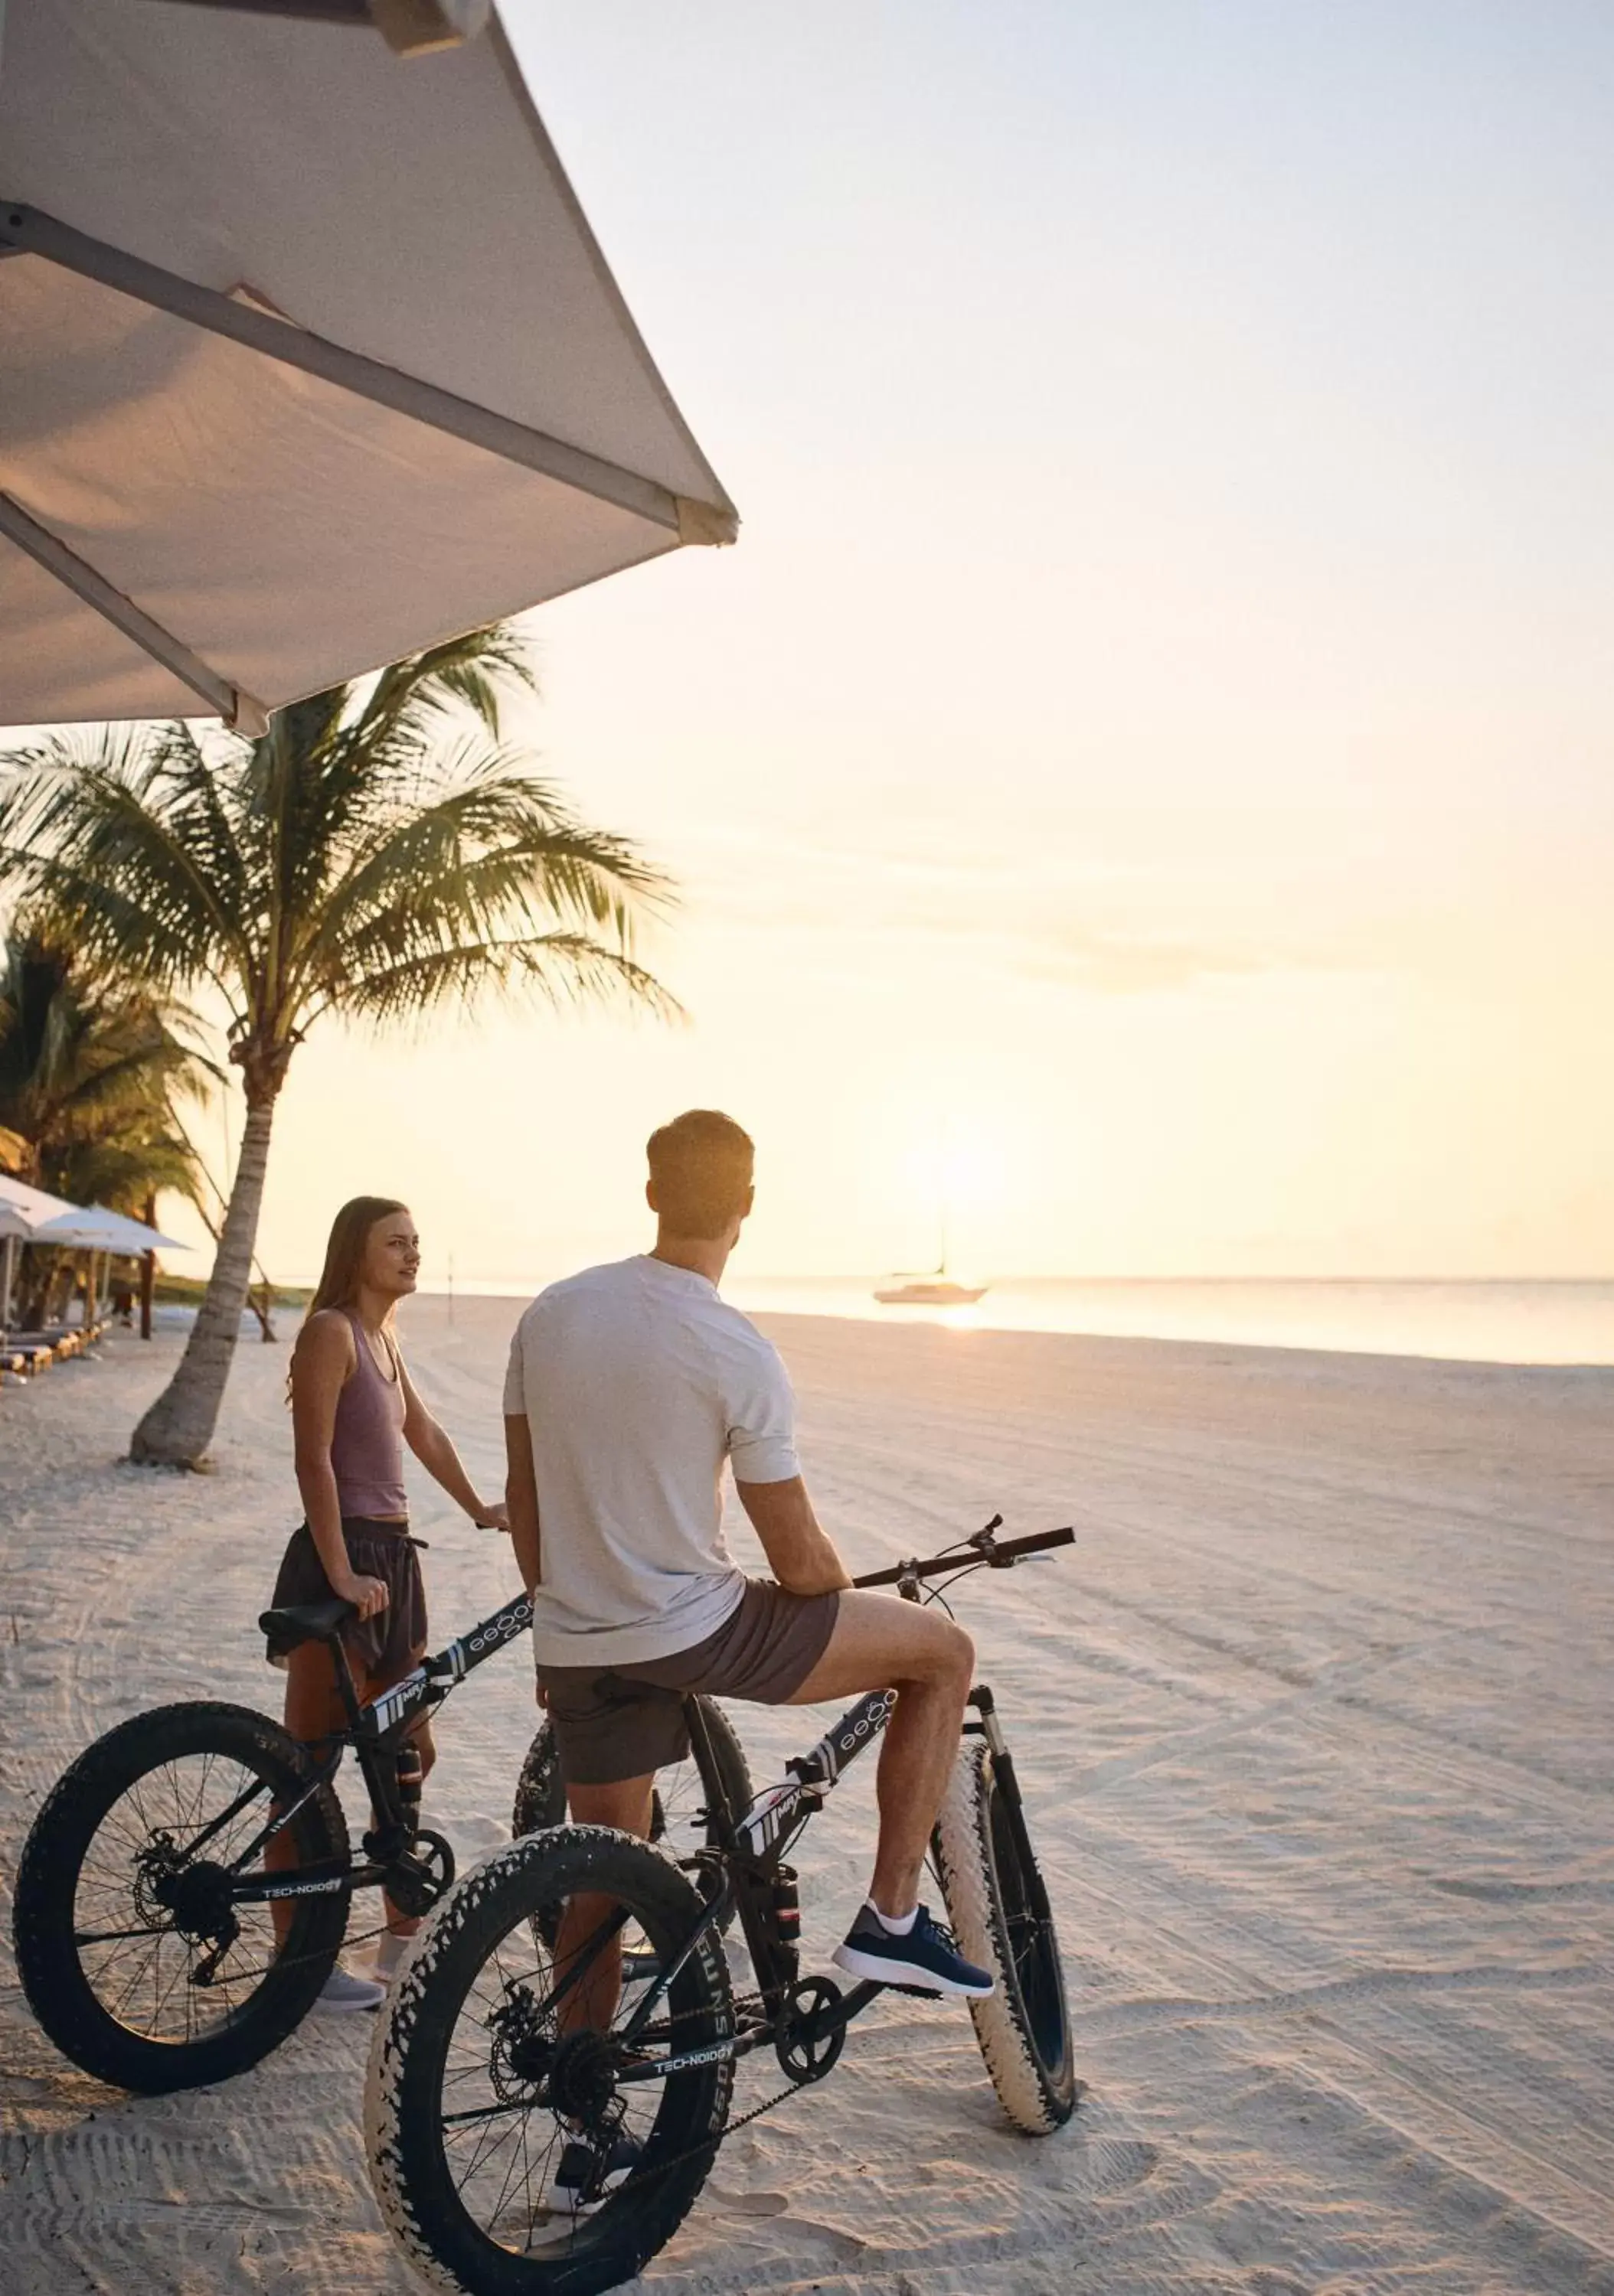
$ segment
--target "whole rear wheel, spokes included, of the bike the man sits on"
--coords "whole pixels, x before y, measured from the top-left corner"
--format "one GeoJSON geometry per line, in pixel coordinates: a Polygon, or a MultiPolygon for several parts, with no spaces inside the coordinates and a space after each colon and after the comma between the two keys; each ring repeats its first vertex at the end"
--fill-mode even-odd
{"type": "MultiPolygon", "coordinates": [[[[383,2209],[395,2229],[413,2227],[404,2229],[413,2259],[425,2262],[425,2245],[439,2275],[448,2266],[459,2287],[615,2287],[636,2268],[631,2257],[652,2252],[647,2227],[668,2209],[675,2223],[698,2190],[705,2161],[691,2163],[691,2142],[703,2151],[703,2133],[721,2128],[730,2069],[703,2064],[618,2085],[618,2037],[643,2004],[652,1968],[627,1965],[611,2014],[590,1995],[590,1972],[611,1938],[627,1931],[643,1933],[657,1958],[675,1954],[698,1901],[654,1853],[572,1828],[512,1844],[461,1890],[464,1917],[450,1917],[450,1899],[411,1956],[388,2027],[377,2032],[372,2096],[393,2128],[379,2140],[388,2158],[383,2209]],[[624,1919],[597,1926],[558,1958],[530,1917],[530,1894],[519,1885],[501,1890],[496,1878],[505,1867],[519,1883],[521,1864],[510,1860],[542,1855],[544,1841],[579,1839],[585,1848],[599,1841],[597,1864],[556,1867],[556,1880],[608,1892],[624,1919]],[[579,2149],[592,2165],[581,2188],[574,2167],[567,2190],[562,2170],[579,2149]],[[627,2181],[613,2190],[606,2174],[627,2181]],[[402,2209],[388,2202],[388,2186],[402,2209]],[[680,2197],[675,2186],[686,2193],[680,2197]]],[[[636,2037],[638,2064],[709,2046],[728,2030],[719,1970],[714,1942],[691,1956],[636,2037]]],[[[370,2108],[367,2117],[374,2163],[370,2108]]]]}

